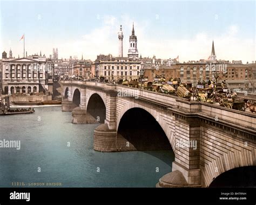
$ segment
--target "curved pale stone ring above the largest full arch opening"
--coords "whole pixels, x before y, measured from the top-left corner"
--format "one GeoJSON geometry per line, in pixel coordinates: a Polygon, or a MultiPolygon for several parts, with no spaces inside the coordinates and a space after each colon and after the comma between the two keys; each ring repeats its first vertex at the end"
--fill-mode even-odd
{"type": "Polygon", "coordinates": [[[150,107],[147,107],[145,104],[139,104],[136,102],[126,103],[117,115],[117,121],[116,121],[117,130],[119,128],[120,121],[124,116],[125,112],[127,112],[132,108],[141,108],[156,119],[156,123],[160,125],[161,129],[163,129],[165,135],[169,139],[172,150],[174,152],[175,151],[175,118],[174,116],[171,117],[170,115],[166,115],[164,112],[160,112],[157,109],[152,109],[150,107]],[[171,123],[167,124],[167,122],[171,122],[171,123]]]}

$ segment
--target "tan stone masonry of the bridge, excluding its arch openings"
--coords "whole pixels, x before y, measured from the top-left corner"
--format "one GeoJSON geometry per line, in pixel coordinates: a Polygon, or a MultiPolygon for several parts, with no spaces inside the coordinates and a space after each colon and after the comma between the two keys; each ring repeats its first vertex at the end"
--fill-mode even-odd
{"type": "MultiPolygon", "coordinates": [[[[208,187],[221,173],[256,165],[254,114],[147,90],[137,90],[138,98],[118,97],[118,89],[136,89],[114,84],[63,82],[62,86],[63,96],[67,87],[70,96],[80,90],[80,105],[72,111],[73,123],[98,123],[86,109],[93,94],[102,98],[106,118],[95,130],[93,149],[97,151],[136,150],[132,144],[127,147],[127,140],[118,135],[126,111],[142,108],[156,118],[175,154],[172,170],[159,180],[157,187],[208,187]],[[196,149],[177,146],[177,142],[183,141],[196,142],[196,149]]],[[[71,110],[67,104],[72,104],[70,96],[63,101],[64,110],[71,110]]]]}

